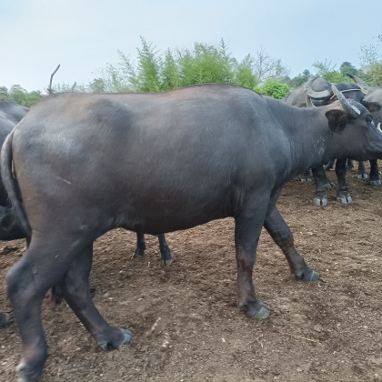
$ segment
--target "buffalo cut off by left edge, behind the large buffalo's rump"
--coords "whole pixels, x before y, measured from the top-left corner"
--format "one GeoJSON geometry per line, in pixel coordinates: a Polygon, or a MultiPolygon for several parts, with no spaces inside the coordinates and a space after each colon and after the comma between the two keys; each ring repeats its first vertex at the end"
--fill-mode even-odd
{"type": "MultiPolygon", "coordinates": [[[[0,102],[0,147],[3,146],[5,137],[28,110],[25,106],[5,101],[0,102]]],[[[8,196],[0,177],[0,240],[14,240],[24,237],[25,233],[8,203],[8,196]]],[[[8,321],[9,315],[0,312],[0,327],[4,327],[8,321]]]]}

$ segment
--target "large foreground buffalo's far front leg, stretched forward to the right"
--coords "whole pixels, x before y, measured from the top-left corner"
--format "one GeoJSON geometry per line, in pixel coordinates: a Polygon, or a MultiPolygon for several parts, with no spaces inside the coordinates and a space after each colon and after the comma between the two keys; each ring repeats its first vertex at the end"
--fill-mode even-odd
{"type": "Polygon", "coordinates": [[[305,281],[316,281],[319,278],[318,273],[307,266],[304,257],[297,252],[292,232],[276,206],[266,216],[264,227],[276,245],[283,251],[293,275],[305,281]]]}

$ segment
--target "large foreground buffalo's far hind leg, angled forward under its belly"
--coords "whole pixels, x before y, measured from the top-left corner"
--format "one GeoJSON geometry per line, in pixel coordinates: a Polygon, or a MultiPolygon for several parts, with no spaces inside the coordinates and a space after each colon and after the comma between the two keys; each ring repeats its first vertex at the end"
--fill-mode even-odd
{"type": "Polygon", "coordinates": [[[127,329],[110,327],[100,315],[90,297],[89,274],[93,261],[93,245],[86,246],[65,274],[60,286],[63,296],[90,332],[95,342],[104,350],[113,350],[130,342],[131,332],[127,329]]]}

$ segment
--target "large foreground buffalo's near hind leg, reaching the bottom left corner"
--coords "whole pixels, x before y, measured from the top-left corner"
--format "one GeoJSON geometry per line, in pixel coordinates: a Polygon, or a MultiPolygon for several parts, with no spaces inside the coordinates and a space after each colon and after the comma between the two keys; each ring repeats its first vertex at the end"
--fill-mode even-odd
{"type": "Polygon", "coordinates": [[[68,253],[62,248],[65,248],[63,239],[50,236],[34,241],[32,238],[25,255],[5,276],[23,345],[23,358],[17,367],[22,382],[37,381],[43,373],[47,345],[41,305],[48,289],[65,275],[76,254],[74,247],[68,253]]]}

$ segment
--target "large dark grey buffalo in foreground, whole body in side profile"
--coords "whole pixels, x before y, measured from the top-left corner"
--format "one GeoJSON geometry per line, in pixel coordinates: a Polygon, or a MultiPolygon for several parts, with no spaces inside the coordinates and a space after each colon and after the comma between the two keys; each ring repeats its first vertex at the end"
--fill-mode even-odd
{"type": "Polygon", "coordinates": [[[110,229],[157,235],[233,216],[238,306],[249,317],[269,315],[252,278],[262,226],[297,278],[317,280],[276,208],[282,187],[331,157],[382,156],[370,113],[337,96],[330,106],[297,108],[211,84],[57,94],[34,106],[1,153],[6,191],[32,236],[5,276],[23,343],[22,380],[43,372],[41,304],[50,287],[100,347],[130,341],[128,330],[106,323],[89,293],[93,242],[110,229]]]}

